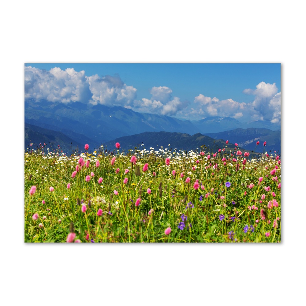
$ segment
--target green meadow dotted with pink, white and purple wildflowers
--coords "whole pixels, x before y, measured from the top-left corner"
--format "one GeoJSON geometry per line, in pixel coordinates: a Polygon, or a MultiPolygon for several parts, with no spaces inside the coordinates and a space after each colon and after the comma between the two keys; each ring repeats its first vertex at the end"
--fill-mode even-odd
{"type": "Polygon", "coordinates": [[[280,242],[280,156],[266,142],[260,158],[226,144],[27,150],[24,241],[280,242]]]}

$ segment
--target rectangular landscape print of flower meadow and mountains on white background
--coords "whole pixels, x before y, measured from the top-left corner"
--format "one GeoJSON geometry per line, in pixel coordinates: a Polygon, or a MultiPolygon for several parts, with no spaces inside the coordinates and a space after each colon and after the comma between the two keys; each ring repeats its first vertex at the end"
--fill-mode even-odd
{"type": "Polygon", "coordinates": [[[281,65],[26,63],[24,241],[281,241],[281,65]]]}

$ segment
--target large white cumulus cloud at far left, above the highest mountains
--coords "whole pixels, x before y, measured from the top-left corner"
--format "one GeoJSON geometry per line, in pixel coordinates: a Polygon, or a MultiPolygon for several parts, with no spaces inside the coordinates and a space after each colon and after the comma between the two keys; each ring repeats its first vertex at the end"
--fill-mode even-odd
{"type": "Polygon", "coordinates": [[[47,70],[24,67],[24,97],[50,102],[87,102],[91,97],[85,71],[58,67],[47,70]]]}

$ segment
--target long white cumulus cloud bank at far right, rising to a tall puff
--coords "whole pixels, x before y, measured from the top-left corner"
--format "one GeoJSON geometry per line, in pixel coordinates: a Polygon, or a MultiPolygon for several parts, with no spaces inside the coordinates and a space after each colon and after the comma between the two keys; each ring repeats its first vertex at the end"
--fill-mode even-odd
{"type": "Polygon", "coordinates": [[[197,107],[191,109],[191,114],[197,114],[201,118],[209,116],[231,117],[244,122],[256,120],[268,120],[271,123],[280,123],[281,100],[280,92],[275,83],[261,82],[256,89],[245,89],[245,94],[255,95],[251,103],[239,103],[233,99],[219,100],[203,94],[195,97],[197,107]]]}

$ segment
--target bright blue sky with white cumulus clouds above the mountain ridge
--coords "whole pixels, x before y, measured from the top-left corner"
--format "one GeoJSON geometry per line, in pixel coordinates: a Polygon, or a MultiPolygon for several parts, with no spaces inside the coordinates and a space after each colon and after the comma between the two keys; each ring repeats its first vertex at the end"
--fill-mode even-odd
{"type": "Polygon", "coordinates": [[[63,103],[88,103],[90,100],[91,104],[119,105],[138,112],[183,119],[221,116],[244,122],[269,120],[280,123],[280,64],[27,63],[25,66],[36,68],[26,69],[25,94],[37,101],[41,97],[63,103]],[[52,70],[51,75],[54,67],[59,69],[52,70]],[[77,79],[84,84],[83,92],[73,98],[69,93],[75,93],[79,85],[67,79],[67,68],[74,69],[74,81],[77,79]],[[84,73],[76,76],[80,71],[84,73]],[[51,95],[50,92],[37,93],[34,92],[34,88],[38,88],[35,82],[49,82],[48,86],[45,84],[48,88],[55,82],[54,91],[66,87],[51,95]]]}

